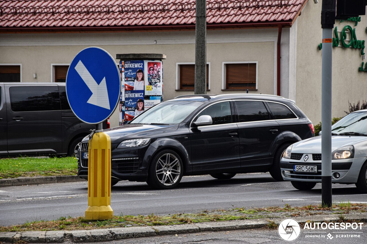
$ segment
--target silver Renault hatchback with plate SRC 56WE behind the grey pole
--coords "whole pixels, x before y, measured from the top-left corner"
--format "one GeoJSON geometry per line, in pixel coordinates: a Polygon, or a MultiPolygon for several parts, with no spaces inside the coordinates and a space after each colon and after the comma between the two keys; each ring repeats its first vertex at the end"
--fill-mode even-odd
{"type": "MultiPolygon", "coordinates": [[[[346,115],[331,127],[331,181],[356,184],[367,193],[367,110],[346,115]]],[[[321,136],[290,145],[280,160],[283,179],[299,190],[321,182],[321,136]]]]}

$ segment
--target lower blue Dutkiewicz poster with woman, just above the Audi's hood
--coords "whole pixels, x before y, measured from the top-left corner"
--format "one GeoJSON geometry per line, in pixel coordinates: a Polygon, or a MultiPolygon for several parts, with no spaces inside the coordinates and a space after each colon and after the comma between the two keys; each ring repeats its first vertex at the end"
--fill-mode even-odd
{"type": "Polygon", "coordinates": [[[144,111],[143,90],[125,90],[125,121],[132,120],[144,111]]]}

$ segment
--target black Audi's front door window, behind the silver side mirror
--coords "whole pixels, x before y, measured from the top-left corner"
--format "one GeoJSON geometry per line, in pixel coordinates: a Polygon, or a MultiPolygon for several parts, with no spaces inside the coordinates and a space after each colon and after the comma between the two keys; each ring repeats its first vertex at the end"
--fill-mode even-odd
{"type": "Polygon", "coordinates": [[[232,113],[230,111],[229,101],[210,105],[201,111],[200,114],[197,115],[196,119],[201,115],[209,115],[213,120],[213,125],[232,123],[232,113]]]}

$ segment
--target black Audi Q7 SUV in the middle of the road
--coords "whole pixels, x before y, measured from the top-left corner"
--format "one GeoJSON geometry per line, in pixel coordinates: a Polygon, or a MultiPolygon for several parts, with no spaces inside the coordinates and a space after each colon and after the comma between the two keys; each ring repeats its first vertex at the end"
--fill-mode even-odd
{"type": "MultiPolygon", "coordinates": [[[[112,185],[146,181],[156,189],[174,188],[183,175],[269,171],[281,181],[282,152],[315,135],[294,101],[261,94],[178,96],[103,132],[111,139],[112,185]]],[[[88,139],[77,155],[85,179],[88,139]]]]}

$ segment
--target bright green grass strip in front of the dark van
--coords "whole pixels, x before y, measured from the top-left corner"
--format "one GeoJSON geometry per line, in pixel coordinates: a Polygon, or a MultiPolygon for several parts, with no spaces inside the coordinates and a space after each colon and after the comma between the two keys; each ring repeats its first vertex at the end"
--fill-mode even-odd
{"type": "Polygon", "coordinates": [[[34,176],[76,175],[74,157],[19,157],[0,159],[0,179],[34,176]]]}

